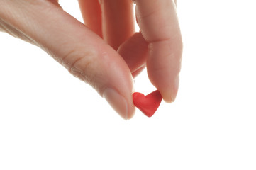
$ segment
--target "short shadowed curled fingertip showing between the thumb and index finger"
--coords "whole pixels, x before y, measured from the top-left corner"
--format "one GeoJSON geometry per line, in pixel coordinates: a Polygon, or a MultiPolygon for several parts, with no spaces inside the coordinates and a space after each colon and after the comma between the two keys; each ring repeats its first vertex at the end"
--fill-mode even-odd
{"type": "Polygon", "coordinates": [[[135,33],[118,48],[118,53],[126,61],[133,77],[136,77],[145,68],[148,57],[148,42],[144,40],[141,33],[135,33]]]}

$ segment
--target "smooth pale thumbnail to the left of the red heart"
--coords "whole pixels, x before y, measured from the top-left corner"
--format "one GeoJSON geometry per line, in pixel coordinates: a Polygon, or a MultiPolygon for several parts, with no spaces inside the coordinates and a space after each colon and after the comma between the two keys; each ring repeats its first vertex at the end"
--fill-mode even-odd
{"type": "Polygon", "coordinates": [[[104,90],[103,97],[122,118],[127,120],[128,103],[123,96],[115,89],[107,88],[104,90]]]}

